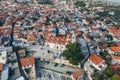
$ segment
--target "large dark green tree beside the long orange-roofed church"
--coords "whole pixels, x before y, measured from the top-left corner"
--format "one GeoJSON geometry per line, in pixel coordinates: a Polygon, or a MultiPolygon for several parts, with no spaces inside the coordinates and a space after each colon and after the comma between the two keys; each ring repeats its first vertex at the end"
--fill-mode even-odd
{"type": "Polygon", "coordinates": [[[71,64],[78,65],[83,60],[80,44],[77,42],[68,44],[66,50],[63,51],[62,56],[69,60],[71,64]]]}

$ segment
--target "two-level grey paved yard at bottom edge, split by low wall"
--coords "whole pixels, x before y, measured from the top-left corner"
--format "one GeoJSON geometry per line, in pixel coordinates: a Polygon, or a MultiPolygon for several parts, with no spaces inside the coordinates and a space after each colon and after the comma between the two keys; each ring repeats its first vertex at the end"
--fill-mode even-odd
{"type": "Polygon", "coordinates": [[[37,80],[72,80],[71,74],[79,71],[78,68],[45,61],[38,61],[36,69],[37,80]]]}

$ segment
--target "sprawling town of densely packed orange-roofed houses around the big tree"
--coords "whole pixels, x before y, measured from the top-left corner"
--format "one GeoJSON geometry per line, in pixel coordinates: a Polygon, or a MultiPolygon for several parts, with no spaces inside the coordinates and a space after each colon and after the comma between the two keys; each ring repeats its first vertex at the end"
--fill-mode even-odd
{"type": "Polygon", "coordinates": [[[103,7],[24,1],[0,1],[0,80],[92,80],[95,72],[120,69],[120,28],[99,17],[103,7]],[[74,43],[78,65],[62,56],[74,43]]]}

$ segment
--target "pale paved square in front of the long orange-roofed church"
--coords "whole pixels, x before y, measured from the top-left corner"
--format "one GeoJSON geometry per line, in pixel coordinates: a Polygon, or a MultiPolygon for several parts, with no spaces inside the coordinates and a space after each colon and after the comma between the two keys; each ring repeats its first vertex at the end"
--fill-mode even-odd
{"type": "MultiPolygon", "coordinates": [[[[30,46],[27,51],[34,54],[35,58],[53,59],[58,56],[59,51],[43,47],[41,45],[30,46]]],[[[29,54],[30,54],[29,53],[29,54]]]]}

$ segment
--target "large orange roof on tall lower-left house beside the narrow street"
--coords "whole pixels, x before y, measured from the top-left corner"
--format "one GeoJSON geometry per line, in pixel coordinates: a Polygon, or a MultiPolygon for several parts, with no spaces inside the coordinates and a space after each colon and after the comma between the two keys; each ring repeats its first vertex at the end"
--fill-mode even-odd
{"type": "Polygon", "coordinates": [[[35,62],[34,57],[21,58],[20,61],[22,66],[33,65],[35,62]]]}

